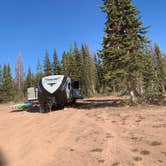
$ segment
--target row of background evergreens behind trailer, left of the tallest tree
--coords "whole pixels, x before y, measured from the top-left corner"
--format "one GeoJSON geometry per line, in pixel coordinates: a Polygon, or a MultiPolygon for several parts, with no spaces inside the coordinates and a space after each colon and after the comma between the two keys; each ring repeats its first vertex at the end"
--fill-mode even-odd
{"type": "Polygon", "coordinates": [[[66,75],[75,80],[80,80],[83,96],[93,96],[102,90],[103,74],[101,60],[97,55],[92,55],[86,44],[81,48],[74,46],[62,55],[59,60],[54,50],[52,61],[46,50],[43,64],[38,59],[36,72],[33,73],[29,66],[27,74],[24,73],[24,64],[21,55],[17,57],[15,65],[15,78],[12,78],[10,65],[0,67],[0,102],[18,101],[26,98],[28,87],[37,86],[43,76],[66,75]],[[101,87],[101,88],[100,88],[101,87]]]}

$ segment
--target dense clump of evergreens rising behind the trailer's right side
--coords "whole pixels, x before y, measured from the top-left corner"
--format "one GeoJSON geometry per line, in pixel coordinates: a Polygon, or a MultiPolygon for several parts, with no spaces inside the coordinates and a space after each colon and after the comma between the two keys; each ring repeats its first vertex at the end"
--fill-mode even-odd
{"type": "Polygon", "coordinates": [[[84,96],[93,96],[96,93],[97,70],[87,45],[82,45],[79,50],[75,43],[74,49],[70,47],[69,52],[64,52],[62,70],[64,75],[81,81],[84,96]]]}

